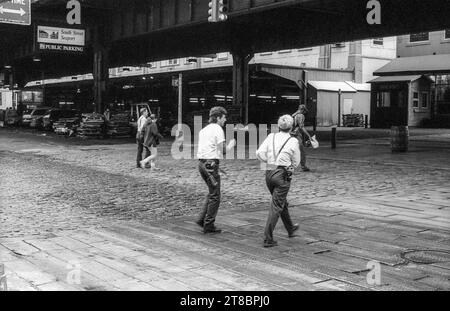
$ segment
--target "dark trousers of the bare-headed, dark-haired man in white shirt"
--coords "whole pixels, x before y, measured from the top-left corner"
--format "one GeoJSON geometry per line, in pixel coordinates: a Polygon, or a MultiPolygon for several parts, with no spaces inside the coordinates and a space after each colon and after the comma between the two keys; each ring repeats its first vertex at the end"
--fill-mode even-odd
{"type": "Polygon", "coordinates": [[[199,161],[198,169],[200,171],[200,175],[205,181],[206,185],[208,185],[208,195],[206,196],[206,201],[203,206],[203,209],[199,215],[199,222],[203,223],[204,229],[212,229],[214,228],[214,222],[216,221],[217,212],[219,210],[220,205],[220,175],[219,175],[219,161],[211,160],[211,161],[199,161]],[[208,170],[208,163],[214,161],[214,169],[208,170]],[[211,176],[213,178],[211,178],[211,176]],[[212,180],[213,179],[213,180],[212,180]]]}

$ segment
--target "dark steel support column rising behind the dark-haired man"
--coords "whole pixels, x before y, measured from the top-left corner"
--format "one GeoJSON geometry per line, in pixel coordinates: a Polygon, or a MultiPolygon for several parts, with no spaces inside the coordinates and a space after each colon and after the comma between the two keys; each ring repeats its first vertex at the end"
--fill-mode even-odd
{"type": "Polygon", "coordinates": [[[233,51],[233,105],[241,108],[241,121],[248,124],[249,70],[253,53],[233,51]]]}

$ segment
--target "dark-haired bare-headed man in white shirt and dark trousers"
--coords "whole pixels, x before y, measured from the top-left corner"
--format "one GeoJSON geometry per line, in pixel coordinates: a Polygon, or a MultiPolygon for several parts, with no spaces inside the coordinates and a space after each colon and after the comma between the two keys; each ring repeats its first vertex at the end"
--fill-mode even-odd
{"type": "MultiPolygon", "coordinates": [[[[223,158],[225,133],[223,126],[227,121],[227,111],[223,107],[213,107],[209,112],[209,124],[199,133],[198,152],[199,171],[208,185],[209,193],[205,205],[196,223],[203,228],[204,233],[220,233],[214,222],[220,205],[220,174],[219,159],[223,158]]],[[[236,145],[232,139],[226,150],[236,145]]]]}

